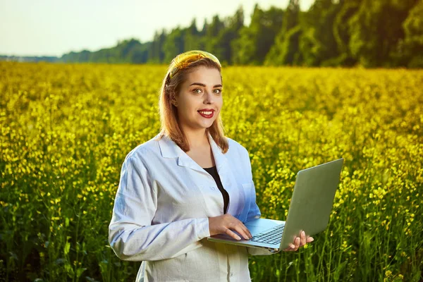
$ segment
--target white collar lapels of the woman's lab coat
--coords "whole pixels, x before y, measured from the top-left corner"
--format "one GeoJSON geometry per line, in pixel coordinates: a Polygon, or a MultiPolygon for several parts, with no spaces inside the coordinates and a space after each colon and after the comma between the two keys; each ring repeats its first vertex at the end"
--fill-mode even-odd
{"type": "MultiPolygon", "coordinates": [[[[221,171],[228,164],[228,160],[226,156],[221,152],[219,146],[214,142],[214,139],[210,133],[207,133],[207,137],[209,138],[209,143],[212,147],[214,162],[216,164],[217,171],[221,171]]],[[[164,158],[176,158],[178,157],[178,166],[186,166],[196,171],[204,172],[204,168],[202,168],[199,164],[197,164],[193,159],[191,159],[188,154],[183,152],[181,149],[171,138],[164,135],[164,137],[159,140],[159,146],[161,151],[161,157],[164,158]]]]}

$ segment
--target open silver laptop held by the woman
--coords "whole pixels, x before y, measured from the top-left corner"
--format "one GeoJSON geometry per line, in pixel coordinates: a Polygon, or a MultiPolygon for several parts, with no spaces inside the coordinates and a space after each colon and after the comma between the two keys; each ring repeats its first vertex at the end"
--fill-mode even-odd
{"type": "Polygon", "coordinates": [[[266,248],[279,252],[300,237],[300,231],[312,236],[326,229],[333,206],[343,158],[298,171],[286,221],[252,219],[244,223],[252,238],[235,240],[227,234],[207,237],[207,240],[245,247],[266,248]]]}

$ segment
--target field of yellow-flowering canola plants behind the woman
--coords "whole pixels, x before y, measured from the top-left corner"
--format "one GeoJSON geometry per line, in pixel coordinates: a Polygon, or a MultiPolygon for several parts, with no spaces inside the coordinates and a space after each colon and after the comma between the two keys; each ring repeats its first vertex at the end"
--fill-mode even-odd
{"type": "MultiPolygon", "coordinates": [[[[0,281],[134,281],[109,247],[121,165],[159,133],[166,66],[0,62],[0,281]]],[[[250,257],[252,281],[422,281],[423,70],[223,68],[226,135],[262,216],[343,157],[326,231],[250,257]]]]}

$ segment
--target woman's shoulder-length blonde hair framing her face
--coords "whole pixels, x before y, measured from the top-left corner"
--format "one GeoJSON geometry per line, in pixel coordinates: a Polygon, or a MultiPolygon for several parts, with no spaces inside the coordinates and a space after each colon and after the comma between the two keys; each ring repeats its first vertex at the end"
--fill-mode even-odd
{"type": "MultiPolygon", "coordinates": [[[[216,68],[221,73],[221,67],[209,58],[201,58],[197,61],[190,63],[185,68],[180,69],[173,78],[170,78],[169,73],[172,71],[172,66],[168,67],[166,76],[161,84],[160,97],[159,97],[159,112],[161,130],[156,140],[160,140],[165,135],[173,142],[175,142],[184,152],[190,150],[188,140],[180,129],[178,123],[178,108],[172,104],[173,99],[176,97],[180,90],[180,85],[187,79],[188,73],[193,71],[199,66],[205,66],[207,68],[216,68]]],[[[214,142],[221,148],[223,154],[228,151],[228,140],[224,135],[223,123],[221,116],[217,116],[213,124],[206,128],[206,134],[212,135],[214,142]]]]}

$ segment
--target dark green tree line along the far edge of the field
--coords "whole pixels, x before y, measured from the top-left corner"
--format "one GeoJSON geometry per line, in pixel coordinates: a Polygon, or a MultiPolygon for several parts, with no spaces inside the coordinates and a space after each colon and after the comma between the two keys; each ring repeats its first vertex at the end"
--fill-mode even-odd
{"type": "Polygon", "coordinates": [[[255,5],[250,24],[243,8],[213,16],[197,30],[155,32],[150,42],[118,42],[99,51],[64,54],[59,61],[170,63],[183,51],[201,49],[224,65],[423,67],[423,0],[316,0],[300,11],[255,5]]]}

